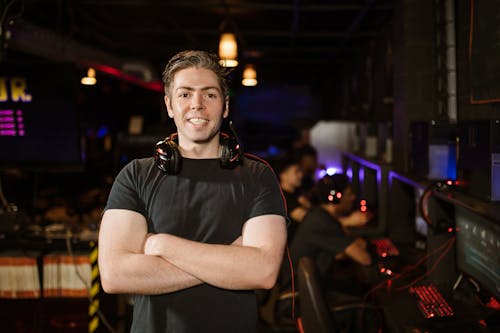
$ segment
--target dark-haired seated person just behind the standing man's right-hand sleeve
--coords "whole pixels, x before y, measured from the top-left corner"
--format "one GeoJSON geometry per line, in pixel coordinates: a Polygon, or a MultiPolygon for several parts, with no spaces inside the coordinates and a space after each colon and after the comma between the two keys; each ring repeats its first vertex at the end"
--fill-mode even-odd
{"type": "Polygon", "coordinates": [[[274,169],[285,197],[290,226],[288,227],[288,241],[291,241],[295,230],[311,208],[307,198],[298,194],[302,183],[303,172],[298,160],[291,154],[286,154],[276,161],[274,169]]]}

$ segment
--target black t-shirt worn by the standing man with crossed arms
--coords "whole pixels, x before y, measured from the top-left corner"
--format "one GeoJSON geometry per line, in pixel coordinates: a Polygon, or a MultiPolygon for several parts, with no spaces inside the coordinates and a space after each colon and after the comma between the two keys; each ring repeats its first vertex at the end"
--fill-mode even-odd
{"type": "MultiPolygon", "coordinates": [[[[218,159],[184,158],[178,175],[163,173],[153,158],[134,160],[117,176],[106,209],[141,213],[148,232],[211,244],[232,243],[252,217],[285,216],[276,176],[249,158],[234,169],[221,168],[218,159]]],[[[137,295],[131,331],[255,332],[256,327],[252,290],[202,284],[169,294],[137,295]]]]}

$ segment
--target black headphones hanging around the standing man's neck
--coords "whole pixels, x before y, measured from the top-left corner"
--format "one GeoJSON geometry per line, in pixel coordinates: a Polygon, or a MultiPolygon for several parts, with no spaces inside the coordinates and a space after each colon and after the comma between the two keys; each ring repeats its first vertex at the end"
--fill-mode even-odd
{"type": "MultiPolygon", "coordinates": [[[[220,166],[232,169],[241,161],[241,148],[234,136],[220,133],[219,159],[220,166]]],[[[155,146],[154,158],[156,166],[169,175],[178,174],[182,167],[182,156],[177,146],[177,133],[173,133],[155,146]]]]}

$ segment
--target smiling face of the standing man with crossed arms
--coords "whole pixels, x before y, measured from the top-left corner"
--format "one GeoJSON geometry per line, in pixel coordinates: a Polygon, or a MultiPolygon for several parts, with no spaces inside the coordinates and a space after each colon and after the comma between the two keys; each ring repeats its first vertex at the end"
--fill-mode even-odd
{"type": "Polygon", "coordinates": [[[165,104],[177,126],[179,144],[185,147],[211,142],[228,115],[217,76],[204,68],[177,72],[165,104]]]}

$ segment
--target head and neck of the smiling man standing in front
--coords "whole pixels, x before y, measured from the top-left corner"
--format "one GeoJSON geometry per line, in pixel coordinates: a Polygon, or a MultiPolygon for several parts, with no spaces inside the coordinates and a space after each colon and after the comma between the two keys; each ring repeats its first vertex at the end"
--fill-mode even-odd
{"type": "Polygon", "coordinates": [[[165,67],[165,105],[184,157],[220,155],[218,134],[228,117],[229,102],[227,71],[218,61],[208,52],[184,51],[165,67]]]}

